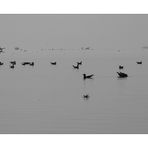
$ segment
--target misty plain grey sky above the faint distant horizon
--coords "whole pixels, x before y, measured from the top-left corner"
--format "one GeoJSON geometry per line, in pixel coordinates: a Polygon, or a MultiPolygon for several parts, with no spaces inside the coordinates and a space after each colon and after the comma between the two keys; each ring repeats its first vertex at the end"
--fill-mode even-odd
{"type": "Polygon", "coordinates": [[[148,15],[0,15],[0,45],[139,49],[148,45],[148,15]]]}

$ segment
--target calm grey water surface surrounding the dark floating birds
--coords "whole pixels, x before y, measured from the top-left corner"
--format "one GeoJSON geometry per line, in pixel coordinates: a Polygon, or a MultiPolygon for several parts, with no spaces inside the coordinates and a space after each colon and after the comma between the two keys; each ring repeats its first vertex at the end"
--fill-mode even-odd
{"type": "Polygon", "coordinates": [[[148,133],[148,51],[62,50],[1,61],[0,133],[148,133]],[[117,78],[120,64],[127,79],[117,78]],[[94,79],[83,81],[83,73],[94,79]]]}

